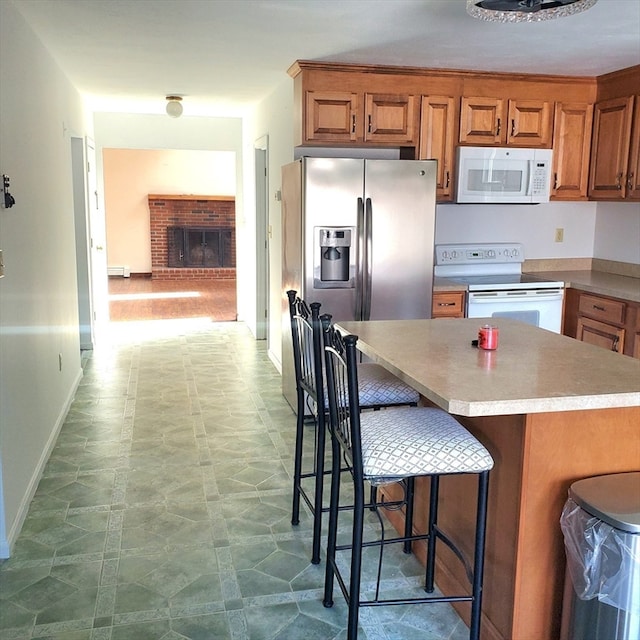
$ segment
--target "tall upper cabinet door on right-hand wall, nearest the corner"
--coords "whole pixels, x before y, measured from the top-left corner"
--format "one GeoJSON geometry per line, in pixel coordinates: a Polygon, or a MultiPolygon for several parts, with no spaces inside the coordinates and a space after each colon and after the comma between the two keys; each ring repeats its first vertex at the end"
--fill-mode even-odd
{"type": "Polygon", "coordinates": [[[633,96],[596,104],[589,171],[589,197],[620,200],[626,194],[633,96]]]}

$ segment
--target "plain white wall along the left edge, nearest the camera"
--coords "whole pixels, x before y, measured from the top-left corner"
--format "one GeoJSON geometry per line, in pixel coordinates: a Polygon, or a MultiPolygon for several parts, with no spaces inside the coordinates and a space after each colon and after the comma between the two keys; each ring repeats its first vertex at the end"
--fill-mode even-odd
{"type": "Polygon", "coordinates": [[[0,557],[7,557],[81,378],[71,136],[80,95],[12,3],[0,2],[0,557]],[[59,358],[62,370],[59,370],[59,358]]]}

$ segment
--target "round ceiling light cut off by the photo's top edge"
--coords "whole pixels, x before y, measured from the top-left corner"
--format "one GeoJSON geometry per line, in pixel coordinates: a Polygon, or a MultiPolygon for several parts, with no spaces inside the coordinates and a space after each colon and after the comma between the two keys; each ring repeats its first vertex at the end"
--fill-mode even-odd
{"type": "Polygon", "coordinates": [[[490,22],[541,22],[582,13],[597,0],[467,0],[467,13],[490,22]]]}

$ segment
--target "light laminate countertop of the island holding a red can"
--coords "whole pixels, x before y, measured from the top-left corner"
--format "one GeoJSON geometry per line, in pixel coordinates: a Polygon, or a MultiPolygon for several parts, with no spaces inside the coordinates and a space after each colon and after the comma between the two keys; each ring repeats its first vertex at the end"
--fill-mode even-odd
{"type": "Polygon", "coordinates": [[[496,351],[477,318],[340,322],[358,348],[449,413],[513,415],[640,406],[640,360],[505,318],[496,351]]]}

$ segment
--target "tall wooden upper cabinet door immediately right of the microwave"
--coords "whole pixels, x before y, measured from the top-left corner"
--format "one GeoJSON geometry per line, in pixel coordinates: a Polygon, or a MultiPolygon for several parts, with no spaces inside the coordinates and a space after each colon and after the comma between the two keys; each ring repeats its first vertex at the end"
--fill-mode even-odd
{"type": "Polygon", "coordinates": [[[553,129],[553,200],[586,199],[593,105],[558,102],[553,129]]]}

